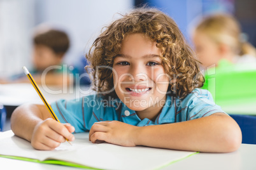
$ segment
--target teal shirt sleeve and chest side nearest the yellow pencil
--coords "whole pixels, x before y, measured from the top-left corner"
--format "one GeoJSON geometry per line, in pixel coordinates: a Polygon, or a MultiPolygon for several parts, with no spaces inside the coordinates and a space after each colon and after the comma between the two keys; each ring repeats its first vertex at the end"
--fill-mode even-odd
{"type": "Polygon", "coordinates": [[[75,133],[89,131],[94,122],[118,120],[115,107],[105,105],[103,98],[97,95],[59,100],[51,106],[59,121],[74,126],[75,133]]]}

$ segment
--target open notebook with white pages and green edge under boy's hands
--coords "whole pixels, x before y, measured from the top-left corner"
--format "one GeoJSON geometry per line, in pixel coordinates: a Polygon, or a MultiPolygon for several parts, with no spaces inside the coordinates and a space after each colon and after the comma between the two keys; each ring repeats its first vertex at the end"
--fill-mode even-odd
{"type": "Polygon", "coordinates": [[[150,147],[121,147],[110,143],[94,144],[89,133],[75,134],[69,145],[62,143],[52,151],[35,150],[29,141],[12,131],[0,134],[0,157],[46,164],[61,164],[89,169],[160,169],[197,152],[150,147]]]}

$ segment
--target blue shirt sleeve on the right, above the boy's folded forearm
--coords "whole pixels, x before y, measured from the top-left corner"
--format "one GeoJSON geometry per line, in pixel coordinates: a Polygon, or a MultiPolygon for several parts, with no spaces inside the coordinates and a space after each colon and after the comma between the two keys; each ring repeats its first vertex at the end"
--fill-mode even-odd
{"type": "Polygon", "coordinates": [[[183,108],[187,111],[187,121],[206,117],[217,112],[225,113],[222,108],[215,104],[211,93],[206,89],[194,89],[182,101],[183,108]]]}

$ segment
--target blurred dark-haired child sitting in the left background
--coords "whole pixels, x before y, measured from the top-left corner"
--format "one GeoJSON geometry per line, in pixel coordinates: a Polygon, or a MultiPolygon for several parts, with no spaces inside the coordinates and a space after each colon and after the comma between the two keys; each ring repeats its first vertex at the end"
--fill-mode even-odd
{"type": "MultiPolygon", "coordinates": [[[[68,49],[69,37],[66,32],[48,28],[36,31],[33,37],[33,69],[30,72],[38,84],[63,86],[73,83],[73,80],[69,79],[67,67],[62,66],[62,60],[68,49]]],[[[21,74],[0,81],[0,83],[19,82],[29,82],[29,79],[21,74]]]]}

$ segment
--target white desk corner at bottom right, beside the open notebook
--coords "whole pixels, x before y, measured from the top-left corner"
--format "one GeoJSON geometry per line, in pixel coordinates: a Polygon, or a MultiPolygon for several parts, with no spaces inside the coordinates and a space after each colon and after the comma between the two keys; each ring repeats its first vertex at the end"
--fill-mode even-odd
{"type": "MultiPolygon", "coordinates": [[[[256,169],[256,145],[241,144],[236,152],[227,154],[199,153],[171,165],[172,169],[256,169]]],[[[170,169],[166,167],[163,170],[170,169]]]]}

